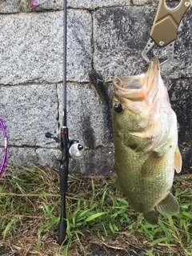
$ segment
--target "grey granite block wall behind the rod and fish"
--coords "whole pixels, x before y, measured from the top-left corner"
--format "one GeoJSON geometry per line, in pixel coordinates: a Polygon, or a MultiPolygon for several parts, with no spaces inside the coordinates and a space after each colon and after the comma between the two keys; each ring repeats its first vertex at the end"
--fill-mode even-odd
{"type": "MultiPolygon", "coordinates": [[[[9,136],[8,162],[58,167],[58,144],[45,138],[62,124],[63,2],[0,1],[0,116],[9,136]]],[[[114,146],[110,110],[89,89],[88,70],[106,80],[146,72],[141,53],[149,39],[158,0],[68,0],[67,126],[86,145],[70,171],[112,174],[114,146]]],[[[178,30],[174,62],[162,78],[179,123],[183,170],[192,166],[192,15],[178,30]]],[[[154,48],[162,57],[166,50],[154,48]]]]}

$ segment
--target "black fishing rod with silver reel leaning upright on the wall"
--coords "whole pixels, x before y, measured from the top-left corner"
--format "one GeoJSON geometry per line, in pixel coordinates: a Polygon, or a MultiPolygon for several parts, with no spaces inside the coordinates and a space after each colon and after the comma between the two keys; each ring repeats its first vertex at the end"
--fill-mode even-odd
{"type": "Polygon", "coordinates": [[[59,160],[59,178],[61,194],[61,216],[58,229],[58,244],[66,239],[66,192],[69,158],[81,159],[84,154],[84,146],[77,140],[69,139],[69,130],[66,126],[66,44],[67,44],[67,2],[63,2],[63,90],[62,90],[62,128],[60,138],[54,137],[54,134],[46,133],[46,138],[53,138],[59,143],[59,149],[62,151],[62,158],[59,160]]]}

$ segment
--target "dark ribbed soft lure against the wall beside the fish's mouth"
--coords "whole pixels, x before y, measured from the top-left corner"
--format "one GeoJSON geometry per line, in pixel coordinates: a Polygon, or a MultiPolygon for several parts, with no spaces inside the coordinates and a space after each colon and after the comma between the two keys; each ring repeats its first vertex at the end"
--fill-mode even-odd
{"type": "Polygon", "coordinates": [[[100,97],[102,102],[109,104],[110,97],[107,94],[106,86],[104,85],[102,76],[99,75],[95,70],[91,70],[89,72],[90,82],[93,84],[98,96],[100,97]]]}

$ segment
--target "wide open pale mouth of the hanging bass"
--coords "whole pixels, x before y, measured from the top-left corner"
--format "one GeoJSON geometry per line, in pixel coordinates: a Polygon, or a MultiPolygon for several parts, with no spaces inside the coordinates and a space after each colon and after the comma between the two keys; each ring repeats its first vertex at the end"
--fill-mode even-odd
{"type": "Polygon", "coordinates": [[[142,101],[154,89],[156,74],[160,74],[160,63],[158,58],[152,58],[146,74],[114,78],[115,94],[133,101],[142,101]]]}

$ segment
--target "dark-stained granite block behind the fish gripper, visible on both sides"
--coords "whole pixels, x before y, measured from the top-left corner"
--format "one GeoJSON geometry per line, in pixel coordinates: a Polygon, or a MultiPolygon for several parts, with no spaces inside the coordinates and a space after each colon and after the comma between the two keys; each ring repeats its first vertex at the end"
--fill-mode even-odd
{"type": "MultiPolygon", "coordinates": [[[[133,75],[146,72],[148,65],[142,59],[142,50],[149,40],[157,4],[100,9],[94,12],[94,67],[104,77],[133,75]]],[[[190,11],[186,13],[178,30],[174,61],[162,66],[164,78],[191,77],[192,29],[190,11]]],[[[157,46],[149,53],[166,59],[166,48],[157,46]]]]}

